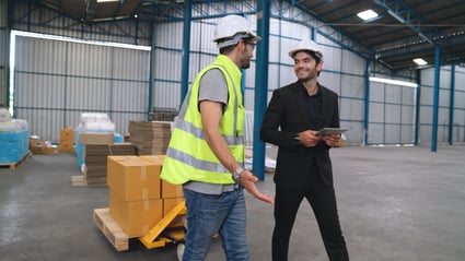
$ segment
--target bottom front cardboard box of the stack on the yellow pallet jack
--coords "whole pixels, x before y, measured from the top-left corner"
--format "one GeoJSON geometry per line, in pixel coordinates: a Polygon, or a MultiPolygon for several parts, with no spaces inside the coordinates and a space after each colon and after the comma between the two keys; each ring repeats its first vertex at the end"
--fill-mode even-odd
{"type": "Polygon", "coordinates": [[[109,213],[128,237],[142,237],[162,220],[162,200],[128,202],[109,189],[109,213]]]}

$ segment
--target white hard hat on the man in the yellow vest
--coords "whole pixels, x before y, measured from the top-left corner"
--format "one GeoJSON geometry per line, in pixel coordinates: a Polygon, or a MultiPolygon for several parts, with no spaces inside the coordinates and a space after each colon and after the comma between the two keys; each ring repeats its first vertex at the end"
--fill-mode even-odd
{"type": "Polygon", "coordinates": [[[218,21],[213,35],[218,48],[235,45],[241,38],[252,38],[254,41],[261,39],[252,32],[251,23],[241,15],[231,14],[218,21]]]}

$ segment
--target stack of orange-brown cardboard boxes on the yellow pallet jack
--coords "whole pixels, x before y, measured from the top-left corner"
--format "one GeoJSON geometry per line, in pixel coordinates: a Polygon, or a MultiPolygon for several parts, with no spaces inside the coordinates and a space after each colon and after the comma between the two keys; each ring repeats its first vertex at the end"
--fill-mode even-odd
{"type": "Polygon", "coordinates": [[[108,156],[109,213],[128,237],[142,237],[184,200],[160,179],[163,156],[108,156]]]}

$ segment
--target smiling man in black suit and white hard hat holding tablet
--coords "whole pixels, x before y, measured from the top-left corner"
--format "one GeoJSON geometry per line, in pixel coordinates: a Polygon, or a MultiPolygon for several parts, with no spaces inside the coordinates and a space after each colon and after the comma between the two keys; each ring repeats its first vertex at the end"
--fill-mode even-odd
{"type": "Polygon", "coordinates": [[[340,135],[317,135],[324,127],[339,128],[338,96],[317,81],[323,55],[314,41],[291,49],[298,81],[277,88],[264,116],[260,139],[279,146],[275,171],[272,260],[287,261],[289,238],[305,198],[313,209],[332,261],[349,254],[339,224],[329,149],[340,135]]]}

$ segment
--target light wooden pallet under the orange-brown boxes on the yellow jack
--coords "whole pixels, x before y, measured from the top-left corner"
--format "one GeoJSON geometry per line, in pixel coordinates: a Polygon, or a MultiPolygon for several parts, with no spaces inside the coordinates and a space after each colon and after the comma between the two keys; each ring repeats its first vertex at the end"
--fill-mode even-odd
{"type": "Polygon", "coordinates": [[[117,251],[126,251],[129,249],[129,238],[109,214],[108,207],[95,209],[93,220],[95,225],[102,230],[117,251]]]}

